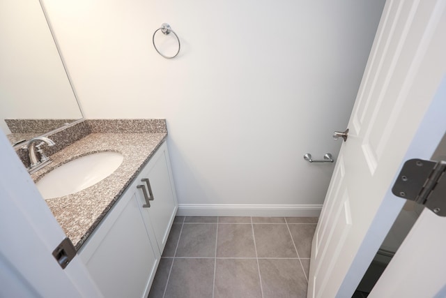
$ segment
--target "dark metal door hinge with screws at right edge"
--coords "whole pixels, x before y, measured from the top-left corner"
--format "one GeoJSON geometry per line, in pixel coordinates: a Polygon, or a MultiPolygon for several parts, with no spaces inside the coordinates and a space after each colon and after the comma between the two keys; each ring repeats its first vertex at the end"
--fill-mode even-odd
{"type": "Polygon", "coordinates": [[[410,159],[404,163],[392,193],[446,216],[446,161],[410,159]]]}

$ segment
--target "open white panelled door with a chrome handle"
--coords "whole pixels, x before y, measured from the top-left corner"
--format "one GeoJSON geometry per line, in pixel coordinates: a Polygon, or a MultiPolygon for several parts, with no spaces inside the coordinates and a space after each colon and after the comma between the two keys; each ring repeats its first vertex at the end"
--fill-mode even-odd
{"type": "Polygon", "coordinates": [[[425,114],[446,73],[445,6],[385,4],[314,234],[308,297],[351,297],[403,206],[394,177],[423,120],[444,118],[425,114]]]}

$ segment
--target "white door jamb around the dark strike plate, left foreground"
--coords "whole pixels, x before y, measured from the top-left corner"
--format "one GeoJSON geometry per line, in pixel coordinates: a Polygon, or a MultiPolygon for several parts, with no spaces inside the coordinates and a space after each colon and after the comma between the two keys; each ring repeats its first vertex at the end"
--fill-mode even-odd
{"type": "Polygon", "coordinates": [[[102,297],[79,257],[52,256],[66,236],[1,132],[0,152],[0,297],[102,297]]]}

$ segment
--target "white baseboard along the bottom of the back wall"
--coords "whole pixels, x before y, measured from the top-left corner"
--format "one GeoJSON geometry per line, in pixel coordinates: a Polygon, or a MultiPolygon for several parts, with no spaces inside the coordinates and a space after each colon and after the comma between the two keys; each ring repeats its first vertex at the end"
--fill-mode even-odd
{"type": "Polygon", "coordinates": [[[177,215],[314,217],[321,209],[321,204],[179,204],[177,215]]]}

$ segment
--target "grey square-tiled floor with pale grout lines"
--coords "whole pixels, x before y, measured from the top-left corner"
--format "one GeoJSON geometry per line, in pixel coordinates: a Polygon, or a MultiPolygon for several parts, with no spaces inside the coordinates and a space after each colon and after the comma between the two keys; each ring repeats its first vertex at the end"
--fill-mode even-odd
{"type": "Polygon", "coordinates": [[[178,216],[148,297],[307,297],[316,223],[178,216]]]}

